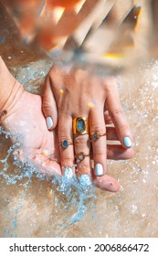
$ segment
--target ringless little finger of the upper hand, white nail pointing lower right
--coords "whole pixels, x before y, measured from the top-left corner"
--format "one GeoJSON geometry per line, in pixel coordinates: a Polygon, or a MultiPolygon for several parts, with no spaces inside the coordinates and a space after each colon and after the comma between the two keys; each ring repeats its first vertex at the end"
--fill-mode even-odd
{"type": "Polygon", "coordinates": [[[106,109],[110,112],[111,120],[116,128],[121,144],[126,148],[131,147],[132,133],[121,108],[116,80],[108,80],[107,86],[111,86],[112,90],[107,91],[106,109]]]}

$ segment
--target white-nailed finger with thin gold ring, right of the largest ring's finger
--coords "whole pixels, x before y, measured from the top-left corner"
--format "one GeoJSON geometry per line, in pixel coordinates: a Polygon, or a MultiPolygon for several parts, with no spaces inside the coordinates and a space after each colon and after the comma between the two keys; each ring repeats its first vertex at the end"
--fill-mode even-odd
{"type": "Polygon", "coordinates": [[[94,139],[93,135],[93,139],[91,140],[93,148],[94,173],[96,176],[102,176],[106,172],[106,127],[103,108],[99,104],[97,107],[90,110],[90,135],[94,133],[102,134],[102,136],[97,140],[94,139]]]}

